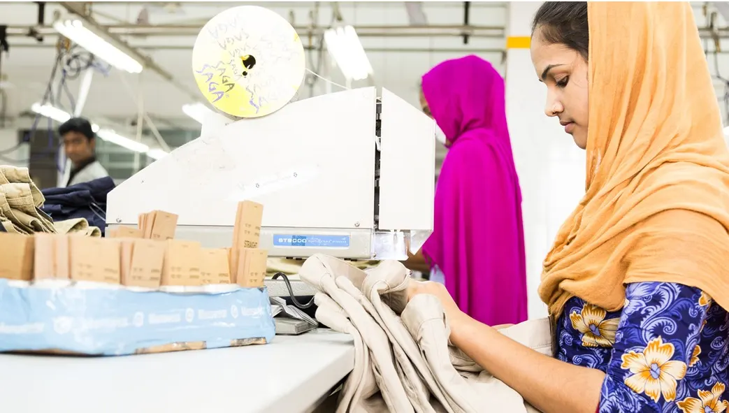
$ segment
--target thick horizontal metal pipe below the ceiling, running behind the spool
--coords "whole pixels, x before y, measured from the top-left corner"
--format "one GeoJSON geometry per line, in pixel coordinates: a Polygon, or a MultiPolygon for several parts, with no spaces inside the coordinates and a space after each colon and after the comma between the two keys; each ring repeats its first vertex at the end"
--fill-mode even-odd
{"type": "MultiPolygon", "coordinates": [[[[109,35],[126,36],[198,36],[202,25],[98,25],[109,35]]],[[[443,37],[470,36],[503,38],[503,27],[479,25],[356,25],[359,37],[443,37]]],[[[28,36],[31,30],[41,35],[57,34],[52,26],[9,25],[8,36],[28,36]]],[[[299,36],[321,36],[326,27],[296,26],[299,36]]],[[[729,30],[729,29],[728,29],[729,30]]]]}

